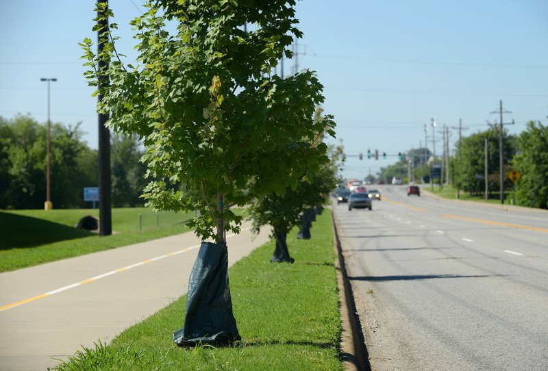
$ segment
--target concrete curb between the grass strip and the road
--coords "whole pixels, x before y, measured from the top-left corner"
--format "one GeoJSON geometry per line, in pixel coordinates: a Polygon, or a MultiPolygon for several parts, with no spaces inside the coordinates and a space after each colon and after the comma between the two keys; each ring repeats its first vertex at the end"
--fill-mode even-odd
{"type": "Polygon", "coordinates": [[[357,318],[356,305],[352,294],[352,287],[348,279],[343,248],[340,246],[338,232],[333,211],[331,212],[333,225],[333,248],[337,255],[335,268],[337,271],[337,285],[340,302],[340,359],[343,360],[345,370],[370,371],[369,355],[365,348],[364,336],[357,318]]]}

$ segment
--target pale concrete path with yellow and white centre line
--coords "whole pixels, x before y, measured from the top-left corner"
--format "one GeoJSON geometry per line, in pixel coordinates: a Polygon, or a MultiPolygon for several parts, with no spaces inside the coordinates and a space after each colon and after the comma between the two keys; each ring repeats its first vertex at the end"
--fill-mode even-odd
{"type": "MultiPolygon", "coordinates": [[[[229,264],[268,240],[243,225],[227,237],[229,264]]],[[[186,294],[198,250],[184,233],[1,273],[0,370],[45,370],[81,344],[109,342],[186,294]]]]}

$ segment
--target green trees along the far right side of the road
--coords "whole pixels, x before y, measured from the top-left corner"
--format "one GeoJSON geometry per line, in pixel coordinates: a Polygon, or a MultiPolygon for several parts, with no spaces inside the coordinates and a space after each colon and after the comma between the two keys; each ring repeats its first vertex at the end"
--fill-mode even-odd
{"type": "MultiPolygon", "coordinates": [[[[548,209],[548,127],[540,121],[530,121],[519,135],[510,135],[503,131],[503,188],[506,197],[514,190],[514,183],[508,178],[513,170],[521,175],[516,181],[516,205],[548,209]]],[[[441,166],[440,157],[435,162],[432,157],[429,163],[417,162],[425,158],[427,149],[408,152],[408,158],[414,159],[412,174],[415,181],[429,183],[430,169],[433,165],[441,166]],[[414,154],[415,153],[415,154],[414,154]]],[[[429,154],[429,151],[427,152],[429,154]]],[[[422,160],[421,160],[422,161],[422,160]]],[[[456,143],[456,153],[449,157],[449,178],[444,173],[443,179],[434,179],[434,183],[451,183],[455,188],[469,192],[473,196],[485,196],[485,175],[487,174],[488,198],[497,198],[500,189],[499,165],[499,129],[492,127],[485,131],[463,137],[456,143]],[[485,168],[485,142],[487,142],[487,169],[485,168]],[[486,171],[487,170],[487,171],[486,171]],[[495,194],[496,193],[496,194],[495,194]]],[[[403,158],[397,164],[382,168],[379,179],[391,177],[408,178],[408,159],[403,158]]]]}

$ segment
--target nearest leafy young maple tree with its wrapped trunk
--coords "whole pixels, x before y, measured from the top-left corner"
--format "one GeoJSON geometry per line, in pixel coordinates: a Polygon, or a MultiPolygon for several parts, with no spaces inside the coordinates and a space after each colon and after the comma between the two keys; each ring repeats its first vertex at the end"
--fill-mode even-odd
{"type": "MultiPolygon", "coordinates": [[[[208,248],[223,251],[218,264],[224,270],[225,232],[238,233],[241,221],[227,205],[284,194],[307,170],[328,161],[325,144],[311,146],[326,125],[333,134],[334,125],[329,116],[314,120],[314,109],[323,102],[318,79],[310,71],[286,79],[271,75],[282,55],[291,57],[287,48],[293,37],[302,35],[294,5],[294,0],[149,1],[147,12],[132,21],[136,66],[121,62],[112,36],[115,24],[95,27],[108,38],[101,53],[92,51],[91,40],[82,43],[90,85],[97,86],[100,76],[110,81],[97,92],[103,96],[97,110],[110,114],[109,127],[136,133],[144,142],[148,204],[199,211],[190,225],[203,241],[217,242],[204,242],[200,254],[208,248]],[[168,21],[177,24],[176,34],[166,31],[168,21]]],[[[113,16],[104,3],[97,10],[97,21],[113,16]]],[[[197,264],[207,252],[200,254],[197,264]]],[[[198,290],[203,280],[190,278],[198,290]]],[[[229,299],[227,277],[223,282],[229,299]]],[[[189,310],[196,291],[190,285],[185,326],[175,341],[215,341],[215,331],[237,339],[230,300],[221,306],[229,311],[232,333],[208,322],[204,312],[199,321],[210,328],[192,328],[196,312],[189,310]]]]}

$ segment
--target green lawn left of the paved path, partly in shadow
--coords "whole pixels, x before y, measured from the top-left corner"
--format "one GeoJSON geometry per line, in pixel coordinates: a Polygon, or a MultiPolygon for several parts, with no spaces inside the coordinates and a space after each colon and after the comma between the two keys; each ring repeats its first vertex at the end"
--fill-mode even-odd
{"type": "Polygon", "coordinates": [[[182,222],[190,214],[156,214],[144,207],[112,209],[113,235],[76,229],[86,215],[97,209],[21,210],[0,212],[0,272],[36,266],[188,231],[182,222]],[[141,229],[139,228],[141,214],[141,229]]]}

